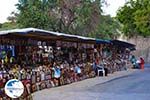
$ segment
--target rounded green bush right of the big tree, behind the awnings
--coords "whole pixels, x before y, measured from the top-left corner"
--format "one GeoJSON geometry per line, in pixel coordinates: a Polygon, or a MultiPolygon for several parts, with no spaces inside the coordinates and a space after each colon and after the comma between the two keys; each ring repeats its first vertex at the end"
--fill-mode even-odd
{"type": "Polygon", "coordinates": [[[97,30],[91,33],[92,37],[103,39],[116,39],[120,35],[120,24],[114,18],[109,15],[102,16],[97,30]]]}

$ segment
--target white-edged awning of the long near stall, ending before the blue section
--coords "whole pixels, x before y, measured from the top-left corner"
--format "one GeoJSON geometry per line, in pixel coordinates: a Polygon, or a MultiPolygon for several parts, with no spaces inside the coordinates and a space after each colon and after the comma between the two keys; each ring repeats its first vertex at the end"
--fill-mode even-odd
{"type": "Polygon", "coordinates": [[[40,37],[44,39],[55,38],[55,39],[62,39],[66,41],[73,41],[73,42],[93,42],[95,38],[83,37],[78,35],[70,35],[65,33],[59,32],[52,32],[37,28],[24,28],[24,29],[13,29],[13,30],[6,30],[0,31],[0,35],[17,35],[17,36],[26,36],[26,37],[40,37]]]}

